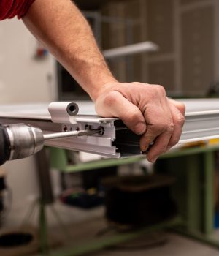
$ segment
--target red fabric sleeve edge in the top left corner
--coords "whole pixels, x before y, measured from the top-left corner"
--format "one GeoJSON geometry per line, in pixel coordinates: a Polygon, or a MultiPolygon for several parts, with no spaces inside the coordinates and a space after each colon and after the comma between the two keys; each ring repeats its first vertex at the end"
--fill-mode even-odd
{"type": "Polygon", "coordinates": [[[22,18],[26,15],[34,0],[0,0],[0,20],[13,18],[16,15],[22,18]]]}

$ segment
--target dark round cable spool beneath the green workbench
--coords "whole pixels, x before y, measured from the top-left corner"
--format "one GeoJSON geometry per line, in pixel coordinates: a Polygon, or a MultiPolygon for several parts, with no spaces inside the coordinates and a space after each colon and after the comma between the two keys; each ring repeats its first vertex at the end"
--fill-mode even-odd
{"type": "Polygon", "coordinates": [[[177,208],[170,196],[170,176],[120,176],[106,178],[106,217],[128,227],[153,225],[174,217],[177,208]]]}

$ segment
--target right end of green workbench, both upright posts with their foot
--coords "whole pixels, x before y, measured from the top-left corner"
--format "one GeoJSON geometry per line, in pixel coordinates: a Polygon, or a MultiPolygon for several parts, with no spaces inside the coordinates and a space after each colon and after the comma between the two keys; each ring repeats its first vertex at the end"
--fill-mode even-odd
{"type": "Polygon", "coordinates": [[[204,154],[201,154],[201,157],[197,156],[196,159],[189,156],[188,228],[185,230],[183,227],[177,227],[174,230],[181,235],[188,236],[196,241],[201,241],[204,244],[219,249],[218,238],[210,236],[214,230],[215,219],[214,173],[214,151],[206,151],[204,154]],[[201,176],[198,175],[197,170],[199,170],[201,176]],[[197,194],[198,192],[199,195],[197,194]],[[199,211],[199,213],[197,213],[197,211],[199,211]],[[198,221],[195,219],[195,216],[198,221]],[[198,228],[199,222],[201,223],[200,229],[198,228]]]}

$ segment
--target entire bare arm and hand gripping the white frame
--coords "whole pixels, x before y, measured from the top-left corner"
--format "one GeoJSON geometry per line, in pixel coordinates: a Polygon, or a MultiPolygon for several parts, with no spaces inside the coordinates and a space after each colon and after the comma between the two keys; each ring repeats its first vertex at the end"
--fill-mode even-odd
{"type": "Polygon", "coordinates": [[[162,86],[118,83],[96,45],[90,26],[70,0],[35,0],[23,22],[96,104],[100,116],[119,117],[142,135],[150,162],[180,139],[185,107],[167,99],[162,86]]]}

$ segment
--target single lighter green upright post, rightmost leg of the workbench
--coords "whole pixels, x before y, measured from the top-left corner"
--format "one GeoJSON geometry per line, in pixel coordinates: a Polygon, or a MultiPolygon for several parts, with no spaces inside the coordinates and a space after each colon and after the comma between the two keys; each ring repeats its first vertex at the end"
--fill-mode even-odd
{"type": "Polygon", "coordinates": [[[214,230],[214,152],[204,154],[204,233],[210,235],[214,230]]]}

